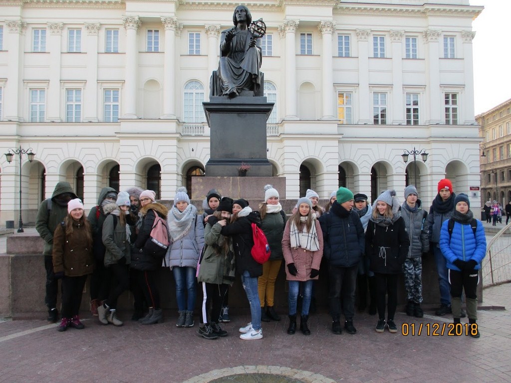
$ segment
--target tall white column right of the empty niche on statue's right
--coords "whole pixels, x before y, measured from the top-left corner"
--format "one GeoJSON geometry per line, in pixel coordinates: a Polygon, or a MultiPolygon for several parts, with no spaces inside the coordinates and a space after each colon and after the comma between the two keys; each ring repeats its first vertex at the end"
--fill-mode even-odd
{"type": "Polygon", "coordinates": [[[321,119],[335,119],[334,116],[334,75],[332,58],[332,33],[335,30],[335,21],[321,21],[318,31],[321,33],[323,43],[321,47],[321,119]]]}

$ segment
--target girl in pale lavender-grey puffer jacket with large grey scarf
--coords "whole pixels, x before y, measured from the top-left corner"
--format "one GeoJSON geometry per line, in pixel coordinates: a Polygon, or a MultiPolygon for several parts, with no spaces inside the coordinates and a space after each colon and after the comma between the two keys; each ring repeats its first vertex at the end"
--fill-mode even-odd
{"type": "Polygon", "coordinates": [[[171,245],[165,255],[166,264],[174,274],[179,318],[177,327],[194,325],[197,262],[204,246],[204,225],[197,208],[190,204],[187,189],[179,187],[174,205],[167,216],[171,245]],[[187,297],[188,292],[188,297],[187,297]]]}

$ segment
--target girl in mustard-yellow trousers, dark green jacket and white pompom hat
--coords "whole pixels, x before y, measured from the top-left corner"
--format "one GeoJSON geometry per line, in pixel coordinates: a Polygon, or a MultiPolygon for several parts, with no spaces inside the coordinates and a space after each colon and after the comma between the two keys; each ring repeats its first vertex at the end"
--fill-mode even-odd
{"type": "Polygon", "coordinates": [[[282,205],[278,202],[278,192],[272,185],[264,187],[264,201],[259,205],[262,229],[270,245],[270,259],[263,264],[263,275],[258,278],[259,300],[261,303],[261,320],[269,322],[270,319],[280,321],[281,317],[275,311],[275,280],[281,269],[282,236],[286,227],[287,216],[282,205]],[[265,309],[266,304],[266,309],[265,309]]]}

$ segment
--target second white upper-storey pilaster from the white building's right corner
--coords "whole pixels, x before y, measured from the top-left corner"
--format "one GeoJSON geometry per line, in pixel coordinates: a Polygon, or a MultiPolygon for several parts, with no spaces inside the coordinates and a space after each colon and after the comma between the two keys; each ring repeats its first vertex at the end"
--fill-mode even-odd
{"type": "Polygon", "coordinates": [[[428,29],[423,32],[423,36],[426,44],[426,98],[429,102],[429,108],[425,108],[426,113],[429,110],[429,116],[426,115],[425,122],[427,125],[444,124],[442,113],[444,101],[440,92],[440,58],[438,57],[440,31],[428,29]]]}

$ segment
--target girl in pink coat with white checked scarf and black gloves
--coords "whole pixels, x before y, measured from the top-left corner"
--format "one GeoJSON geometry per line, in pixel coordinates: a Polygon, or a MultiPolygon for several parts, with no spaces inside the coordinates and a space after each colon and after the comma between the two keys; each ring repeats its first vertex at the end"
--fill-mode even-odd
{"type": "Polygon", "coordinates": [[[301,306],[300,331],[309,335],[307,326],[311,303],[312,281],[318,279],[319,264],[323,256],[323,233],[309,198],[300,198],[298,209],[286,222],[282,238],[282,252],[286,261],[286,279],[289,282],[288,334],[296,332],[296,301],[300,283],[304,295],[301,306]]]}

